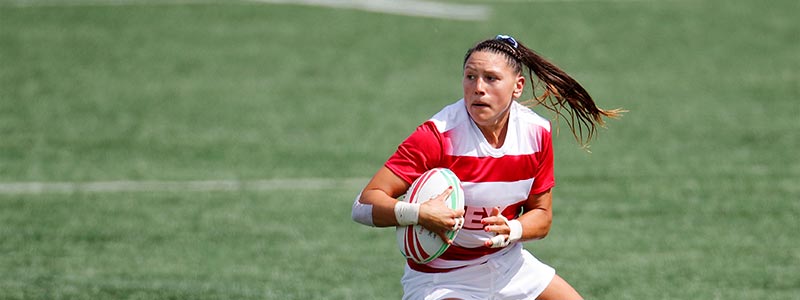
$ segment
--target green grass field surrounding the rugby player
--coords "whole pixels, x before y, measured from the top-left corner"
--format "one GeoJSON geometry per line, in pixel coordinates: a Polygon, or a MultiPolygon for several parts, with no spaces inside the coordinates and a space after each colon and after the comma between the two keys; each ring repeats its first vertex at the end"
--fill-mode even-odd
{"type": "Polygon", "coordinates": [[[0,299],[400,298],[353,182],[497,33],[630,111],[591,153],[561,125],[531,252],[587,299],[800,297],[800,3],[442,2],[491,14],[0,0],[0,299]],[[8,188],[309,179],[347,184],[8,188]]]}

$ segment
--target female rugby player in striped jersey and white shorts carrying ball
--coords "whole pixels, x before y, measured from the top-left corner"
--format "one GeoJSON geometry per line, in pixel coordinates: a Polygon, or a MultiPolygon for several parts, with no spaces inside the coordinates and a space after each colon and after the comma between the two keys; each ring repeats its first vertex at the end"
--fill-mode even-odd
{"type": "Polygon", "coordinates": [[[464,97],[400,144],[356,198],[353,219],[379,227],[420,224],[445,240],[446,231],[463,224],[442,256],[408,261],[403,299],[582,299],[521,244],[548,234],[555,178],[550,122],[517,100],[530,79],[528,103],[564,117],[580,143],[603,117],[621,111],[598,108],[577,81],[510,36],[469,49],[463,70],[464,97]],[[437,167],[461,179],[464,209],[444,205],[449,189],[423,204],[397,200],[437,167]]]}

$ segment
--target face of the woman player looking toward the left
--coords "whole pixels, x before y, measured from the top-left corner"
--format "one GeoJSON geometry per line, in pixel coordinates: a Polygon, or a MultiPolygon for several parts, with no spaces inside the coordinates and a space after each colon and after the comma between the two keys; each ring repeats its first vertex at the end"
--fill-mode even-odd
{"type": "Polygon", "coordinates": [[[503,54],[476,51],[464,64],[464,101],[481,127],[503,126],[513,99],[522,96],[525,77],[514,71],[503,54]]]}

